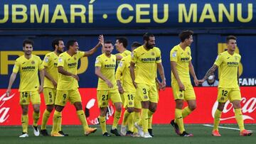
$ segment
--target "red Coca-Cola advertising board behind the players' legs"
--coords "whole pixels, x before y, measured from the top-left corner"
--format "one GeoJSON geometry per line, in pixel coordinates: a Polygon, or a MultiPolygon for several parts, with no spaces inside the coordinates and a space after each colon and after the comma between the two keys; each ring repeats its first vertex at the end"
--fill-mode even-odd
{"type": "MultiPolygon", "coordinates": [[[[195,87],[197,108],[191,115],[184,119],[184,123],[213,123],[213,116],[215,109],[217,109],[218,102],[217,87],[195,87]]],[[[256,87],[240,87],[242,94],[242,116],[245,123],[256,123],[256,87]]],[[[19,93],[17,89],[13,89],[11,96],[6,97],[6,89],[0,89],[0,126],[14,126],[21,125],[21,106],[19,106],[19,93]]],[[[100,110],[96,101],[96,89],[80,89],[82,97],[82,105],[85,108],[85,115],[87,122],[95,125],[99,121],[100,110]]],[[[157,111],[153,117],[153,123],[168,124],[174,118],[175,103],[171,88],[159,93],[159,104],[157,111]]],[[[41,94],[41,118],[46,106],[43,101],[43,94],[41,94]]],[[[32,109],[30,106],[29,109],[32,109]]],[[[114,107],[108,106],[107,123],[112,123],[112,116],[114,114],[114,107]]],[[[51,114],[48,124],[52,124],[51,114]]],[[[39,124],[41,124],[41,118],[39,124]]],[[[121,118],[122,119],[122,118],[121,118]]],[[[32,111],[29,111],[29,123],[32,124],[32,111]]],[[[233,105],[228,101],[225,104],[220,123],[236,123],[233,111],[233,105]]],[[[63,125],[80,125],[78,117],[75,112],[75,107],[67,104],[63,109],[63,125]]]]}

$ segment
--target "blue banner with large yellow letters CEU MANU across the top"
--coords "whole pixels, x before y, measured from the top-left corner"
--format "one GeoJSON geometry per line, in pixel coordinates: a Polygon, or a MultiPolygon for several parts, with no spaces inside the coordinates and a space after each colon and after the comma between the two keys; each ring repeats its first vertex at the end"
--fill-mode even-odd
{"type": "Polygon", "coordinates": [[[255,28],[255,5],[252,0],[2,0],[0,28],[255,28]]]}

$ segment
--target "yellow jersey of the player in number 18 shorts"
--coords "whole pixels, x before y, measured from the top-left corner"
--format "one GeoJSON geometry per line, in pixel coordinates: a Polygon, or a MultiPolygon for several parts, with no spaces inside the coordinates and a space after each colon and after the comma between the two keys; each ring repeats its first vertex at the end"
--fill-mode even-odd
{"type": "Polygon", "coordinates": [[[127,55],[126,57],[123,57],[117,67],[117,72],[115,75],[117,80],[121,80],[122,78],[122,87],[125,92],[136,91],[134,85],[132,84],[132,77],[129,70],[131,60],[132,60],[131,55],[127,55]]]}

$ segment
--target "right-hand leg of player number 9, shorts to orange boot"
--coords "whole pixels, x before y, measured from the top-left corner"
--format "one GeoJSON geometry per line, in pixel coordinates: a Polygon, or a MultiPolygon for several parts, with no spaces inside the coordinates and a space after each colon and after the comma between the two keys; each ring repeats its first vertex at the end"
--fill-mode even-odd
{"type": "Polygon", "coordinates": [[[85,112],[82,110],[82,99],[78,89],[70,90],[69,94],[70,94],[70,97],[69,97],[70,103],[74,104],[75,106],[75,109],[77,111],[77,116],[80,122],[82,123],[82,128],[85,131],[85,135],[90,135],[90,133],[95,133],[95,131],[97,131],[97,128],[90,128],[86,121],[85,112]]]}

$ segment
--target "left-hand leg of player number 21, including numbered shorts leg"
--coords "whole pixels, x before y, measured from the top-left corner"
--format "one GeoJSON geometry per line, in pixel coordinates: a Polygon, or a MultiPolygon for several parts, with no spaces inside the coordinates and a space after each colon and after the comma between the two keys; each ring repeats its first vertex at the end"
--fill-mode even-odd
{"type": "Polygon", "coordinates": [[[102,129],[103,136],[111,136],[107,133],[106,126],[106,113],[107,113],[107,105],[108,105],[108,91],[97,90],[97,103],[100,108],[100,128],[102,129]]]}

